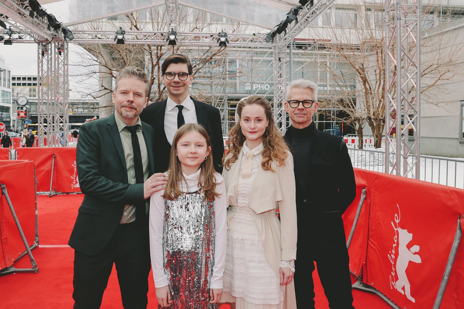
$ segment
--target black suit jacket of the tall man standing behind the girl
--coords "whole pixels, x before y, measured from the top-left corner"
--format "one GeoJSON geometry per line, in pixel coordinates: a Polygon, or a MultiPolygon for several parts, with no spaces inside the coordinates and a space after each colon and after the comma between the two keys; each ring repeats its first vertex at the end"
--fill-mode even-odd
{"type": "MultiPolygon", "coordinates": [[[[212,144],[214,169],[222,173],[222,156],[224,155],[224,140],[222,138],[221,116],[219,109],[190,97],[195,104],[197,121],[208,132],[212,144]]],[[[140,114],[140,119],[155,129],[155,172],[164,172],[168,169],[171,144],[164,131],[164,114],[168,99],[148,105],[140,114]]]]}

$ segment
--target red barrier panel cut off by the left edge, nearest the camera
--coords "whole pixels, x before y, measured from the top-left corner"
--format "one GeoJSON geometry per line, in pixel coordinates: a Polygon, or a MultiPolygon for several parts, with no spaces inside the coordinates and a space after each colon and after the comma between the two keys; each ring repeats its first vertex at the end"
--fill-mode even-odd
{"type": "MultiPolygon", "coordinates": [[[[0,160],[0,183],[6,186],[26,241],[32,246],[35,240],[34,163],[0,160]]],[[[0,269],[4,269],[26,251],[5,195],[0,196],[0,235],[0,269]]]]}

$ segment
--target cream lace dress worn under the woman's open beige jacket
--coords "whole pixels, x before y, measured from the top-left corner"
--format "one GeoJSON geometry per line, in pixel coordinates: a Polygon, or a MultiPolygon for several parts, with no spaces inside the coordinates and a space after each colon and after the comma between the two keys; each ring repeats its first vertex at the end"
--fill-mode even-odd
{"type": "MultiPolygon", "coordinates": [[[[246,154],[248,150],[245,142],[242,151],[246,154]]],[[[260,154],[262,150],[263,144],[253,149],[255,157],[252,161],[251,178],[247,180],[242,179],[246,155],[242,157],[237,188],[238,206],[233,206],[236,214],[227,230],[225,294],[222,301],[232,302],[231,295],[234,296],[237,309],[279,309],[284,300],[280,278],[264,255],[261,235],[251,216],[255,212],[248,208],[251,184],[263,160],[260,154]]],[[[276,212],[272,210],[261,215],[276,215],[276,212]]]]}

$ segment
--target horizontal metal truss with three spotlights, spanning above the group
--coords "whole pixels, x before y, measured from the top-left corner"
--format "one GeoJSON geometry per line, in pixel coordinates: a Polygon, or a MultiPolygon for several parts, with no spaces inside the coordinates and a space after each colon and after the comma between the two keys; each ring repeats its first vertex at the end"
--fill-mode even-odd
{"type": "MultiPolygon", "coordinates": [[[[82,44],[115,44],[113,31],[98,30],[73,30],[74,40],[72,43],[82,44]]],[[[154,33],[146,31],[126,31],[124,34],[125,44],[154,44],[167,45],[167,33],[154,33]]],[[[272,48],[274,44],[266,42],[265,35],[255,36],[253,34],[228,33],[228,47],[261,47],[272,48]]],[[[218,46],[217,33],[206,32],[177,32],[177,45],[188,46],[218,46]]]]}

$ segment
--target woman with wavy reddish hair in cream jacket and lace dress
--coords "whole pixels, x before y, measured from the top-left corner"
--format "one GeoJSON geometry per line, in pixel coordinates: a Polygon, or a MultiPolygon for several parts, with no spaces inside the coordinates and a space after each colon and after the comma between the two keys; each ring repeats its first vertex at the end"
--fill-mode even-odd
{"type": "Polygon", "coordinates": [[[236,121],[223,159],[230,207],[222,301],[232,309],[296,309],[293,158],[265,98],[238,102],[236,121]]]}

